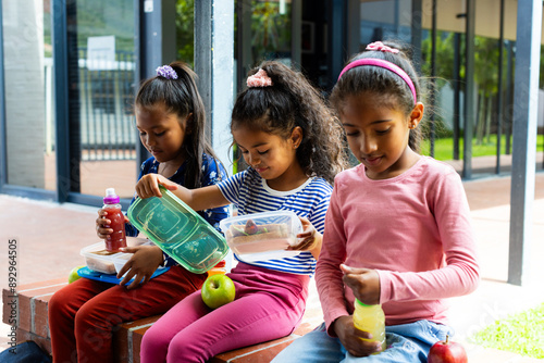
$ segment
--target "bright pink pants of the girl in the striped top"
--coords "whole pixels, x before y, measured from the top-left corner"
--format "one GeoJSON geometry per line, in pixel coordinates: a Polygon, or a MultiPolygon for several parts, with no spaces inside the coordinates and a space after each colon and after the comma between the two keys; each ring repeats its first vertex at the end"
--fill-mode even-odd
{"type": "Polygon", "coordinates": [[[200,291],[188,296],[144,335],[143,363],[206,362],[215,354],[285,337],[302,318],[309,276],[238,263],[228,276],[236,299],[215,310],[200,291]]]}

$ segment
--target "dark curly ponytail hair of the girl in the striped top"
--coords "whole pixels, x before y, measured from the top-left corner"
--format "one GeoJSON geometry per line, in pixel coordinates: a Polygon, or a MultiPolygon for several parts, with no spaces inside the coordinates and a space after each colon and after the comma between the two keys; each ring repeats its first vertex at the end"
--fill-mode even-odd
{"type": "Polygon", "coordinates": [[[240,126],[287,139],[293,129],[302,129],[297,160],[307,176],[329,183],[348,166],[344,129],[323,97],[300,73],[277,61],[265,61],[249,72],[264,70],[273,86],[254,87],[240,92],[232,112],[231,129],[240,126]]]}

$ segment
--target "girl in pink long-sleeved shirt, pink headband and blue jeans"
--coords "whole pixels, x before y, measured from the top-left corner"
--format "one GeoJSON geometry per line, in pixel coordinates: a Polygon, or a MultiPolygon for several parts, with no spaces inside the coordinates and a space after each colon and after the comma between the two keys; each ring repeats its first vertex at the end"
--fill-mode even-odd
{"type": "Polygon", "coordinates": [[[360,164],[335,178],[316,281],[325,322],[273,362],[426,362],[452,335],[445,298],[479,283],[470,211],[455,170],[418,153],[423,103],[406,55],[382,42],[331,95],[360,164]],[[355,298],[382,304],[387,349],[354,327],[355,298]],[[378,354],[374,354],[378,353],[378,354]]]}

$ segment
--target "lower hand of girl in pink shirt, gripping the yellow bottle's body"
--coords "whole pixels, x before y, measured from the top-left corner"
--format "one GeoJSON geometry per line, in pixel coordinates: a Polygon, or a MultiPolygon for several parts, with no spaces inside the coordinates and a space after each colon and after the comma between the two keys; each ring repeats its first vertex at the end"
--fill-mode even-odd
{"type": "Polygon", "coordinates": [[[357,329],[354,326],[354,317],[351,315],[341,316],[333,324],[333,329],[338,339],[351,355],[367,356],[382,349],[381,345],[376,341],[361,340],[361,338],[371,339],[372,335],[368,331],[357,329]]]}

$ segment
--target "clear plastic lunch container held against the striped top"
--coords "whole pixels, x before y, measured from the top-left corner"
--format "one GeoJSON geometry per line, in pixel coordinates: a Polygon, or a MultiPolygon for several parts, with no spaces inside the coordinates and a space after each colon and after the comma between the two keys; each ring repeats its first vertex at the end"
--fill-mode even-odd
{"type": "Polygon", "coordinates": [[[226,243],[244,261],[290,258],[300,251],[286,249],[297,243],[302,224],[292,211],[246,214],[222,220],[226,243]]]}

